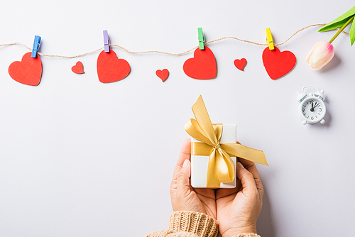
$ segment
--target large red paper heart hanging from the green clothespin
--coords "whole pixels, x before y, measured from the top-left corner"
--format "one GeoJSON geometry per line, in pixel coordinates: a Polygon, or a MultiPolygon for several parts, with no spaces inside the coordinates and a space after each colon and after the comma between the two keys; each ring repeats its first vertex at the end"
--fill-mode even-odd
{"type": "Polygon", "coordinates": [[[184,63],[184,72],[194,79],[213,79],[217,75],[216,59],[208,47],[197,48],[194,57],[184,63]]]}

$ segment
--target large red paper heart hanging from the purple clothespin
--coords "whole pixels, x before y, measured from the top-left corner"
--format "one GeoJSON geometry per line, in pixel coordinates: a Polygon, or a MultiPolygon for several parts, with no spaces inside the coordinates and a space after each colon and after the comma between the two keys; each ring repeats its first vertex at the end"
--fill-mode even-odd
{"type": "Polygon", "coordinates": [[[127,77],[131,72],[129,62],[124,59],[117,59],[114,50],[105,53],[104,50],[97,57],[97,75],[102,83],[117,82],[127,77]]]}

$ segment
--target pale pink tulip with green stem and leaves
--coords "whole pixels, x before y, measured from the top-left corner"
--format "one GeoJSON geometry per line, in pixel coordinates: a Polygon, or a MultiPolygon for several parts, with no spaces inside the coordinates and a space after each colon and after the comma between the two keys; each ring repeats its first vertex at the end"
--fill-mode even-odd
{"type": "MultiPolygon", "coordinates": [[[[313,46],[312,50],[310,50],[310,53],[308,53],[306,57],[306,62],[308,62],[308,65],[312,70],[320,70],[322,67],[324,67],[324,65],[327,65],[327,63],[330,60],[332,60],[334,56],[334,47],[332,45],[332,42],[344,30],[344,28],[347,25],[349,25],[351,21],[354,20],[354,16],[355,16],[355,6],[349,11],[347,11],[346,13],[344,13],[342,16],[339,16],[334,21],[320,28],[320,31],[330,31],[342,26],[342,28],[339,29],[339,31],[334,35],[334,37],[331,40],[329,40],[329,42],[325,40],[320,41],[316,43],[315,46],[313,46]]],[[[351,26],[349,35],[350,35],[350,41],[352,46],[355,41],[354,23],[351,26]]]]}

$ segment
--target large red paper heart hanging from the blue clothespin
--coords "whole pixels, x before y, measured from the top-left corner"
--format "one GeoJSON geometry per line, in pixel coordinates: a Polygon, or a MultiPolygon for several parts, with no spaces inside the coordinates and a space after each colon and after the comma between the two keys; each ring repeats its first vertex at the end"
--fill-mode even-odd
{"type": "Polygon", "coordinates": [[[42,76],[42,62],[40,55],[31,57],[31,52],[23,55],[21,62],[15,61],[9,66],[9,75],[16,82],[38,86],[42,76]]]}

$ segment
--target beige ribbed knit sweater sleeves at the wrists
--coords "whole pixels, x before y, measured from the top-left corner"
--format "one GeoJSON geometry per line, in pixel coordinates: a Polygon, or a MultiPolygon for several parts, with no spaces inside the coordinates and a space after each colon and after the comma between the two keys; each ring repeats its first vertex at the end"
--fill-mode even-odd
{"type": "MultiPolygon", "coordinates": [[[[155,231],[146,237],[217,237],[217,221],[206,214],[193,211],[175,211],[170,214],[169,228],[155,231]]],[[[243,233],[235,237],[260,237],[256,233],[243,233]]]]}

